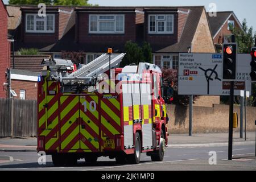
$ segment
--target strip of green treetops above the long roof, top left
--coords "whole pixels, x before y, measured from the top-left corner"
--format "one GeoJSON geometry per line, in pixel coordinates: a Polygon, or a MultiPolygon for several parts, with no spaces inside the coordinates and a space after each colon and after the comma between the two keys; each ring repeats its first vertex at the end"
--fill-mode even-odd
{"type": "Polygon", "coordinates": [[[39,3],[61,6],[93,6],[88,3],[88,0],[9,0],[10,5],[38,5],[39,3]]]}

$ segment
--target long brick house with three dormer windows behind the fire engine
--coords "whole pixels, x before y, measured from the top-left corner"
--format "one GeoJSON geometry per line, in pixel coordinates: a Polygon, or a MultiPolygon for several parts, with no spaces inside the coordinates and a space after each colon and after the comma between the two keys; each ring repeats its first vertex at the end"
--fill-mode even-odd
{"type": "MultiPolygon", "coordinates": [[[[38,10],[20,7],[16,51],[34,47],[55,58],[62,51],[81,52],[80,63],[87,64],[108,47],[124,52],[128,40],[146,41],[151,44],[154,63],[174,69],[179,52],[216,52],[204,6],[47,6],[46,18],[36,16],[38,10]]],[[[219,98],[210,103],[219,104],[219,98]]]]}

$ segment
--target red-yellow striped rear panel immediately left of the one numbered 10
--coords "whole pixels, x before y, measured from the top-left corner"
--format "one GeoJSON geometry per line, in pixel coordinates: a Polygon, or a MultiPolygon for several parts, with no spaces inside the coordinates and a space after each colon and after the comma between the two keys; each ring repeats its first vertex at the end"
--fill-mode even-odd
{"type": "Polygon", "coordinates": [[[60,97],[61,150],[76,152],[80,148],[79,96],[60,97]]]}

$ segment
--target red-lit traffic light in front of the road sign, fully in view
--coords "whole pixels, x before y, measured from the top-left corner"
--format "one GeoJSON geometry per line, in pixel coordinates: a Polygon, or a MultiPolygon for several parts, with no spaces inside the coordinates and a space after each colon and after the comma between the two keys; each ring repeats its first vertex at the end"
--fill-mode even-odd
{"type": "Polygon", "coordinates": [[[223,80],[236,80],[237,43],[223,46],[223,80]]]}

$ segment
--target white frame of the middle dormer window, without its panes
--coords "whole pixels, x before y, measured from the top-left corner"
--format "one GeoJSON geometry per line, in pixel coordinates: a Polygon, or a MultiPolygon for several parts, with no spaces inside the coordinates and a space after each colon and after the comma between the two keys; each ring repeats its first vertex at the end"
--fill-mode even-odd
{"type": "Polygon", "coordinates": [[[123,14],[90,14],[89,15],[89,34],[124,34],[125,33],[125,15],[123,14]],[[91,16],[97,16],[97,31],[91,31],[90,30],[90,17],[91,16]],[[101,19],[100,16],[114,16],[114,19],[101,19]],[[117,16],[122,16],[123,17],[123,31],[117,31],[117,16]],[[114,22],[114,31],[100,31],[100,22],[104,21],[113,21],[114,22]]]}

